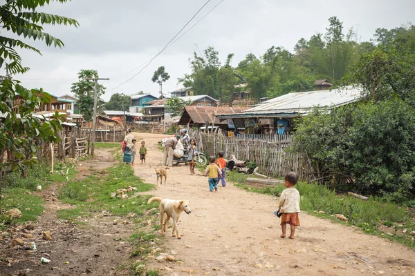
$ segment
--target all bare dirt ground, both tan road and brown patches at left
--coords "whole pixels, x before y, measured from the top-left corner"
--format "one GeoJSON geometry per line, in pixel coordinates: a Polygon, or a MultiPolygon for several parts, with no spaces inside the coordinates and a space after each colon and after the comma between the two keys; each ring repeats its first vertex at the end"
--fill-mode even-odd
{"type": "MultiPolygon", "coordinates": [[[[149,148],[147,164],[136,161],[136,175],[156,184],[154,168],[163,155],[157,142],[166,136],[134,135],[138,141],[145,139],[149,148]]],[[[101,150],[96,159],[81,163],[80,177],[88,175],[88,168],[114,164],[111,154],[101,150]]],[[[275,197],[232,184],[210,193],[208,180],[190,175],[183,164],[168,173],[167,186],[158,185],[148,194],[188,199],[193,211],[181,217],[178,229],[183,239],[171,237],[169,228],[162,251],[176,253],[184,264],[149,260],[147,267],[163,268],[161,275],[415,275],[414,250],[304,213],[296,239],[281,239],[279,220],[273,215],[275,197]]],[[[68,224],[56,212],[72,207],[57,200],[52,195],[56,192],[57,186],[42,191],[46,206],[35,230],[13,229],[15,236],[31,233],[37,251],[17,250],[0,241],[0,275],[126,275],[122,265],[129,262],[131,248],[118,238],[129,237],[133,226],[113,226],[114,217],[103,214],[83,218],[86,226],[68,224]],[[53,241],[42,239],[44,230],[51,231],[53,241]],[[52,262],[39,264],[42,256],[52,262]]]]}

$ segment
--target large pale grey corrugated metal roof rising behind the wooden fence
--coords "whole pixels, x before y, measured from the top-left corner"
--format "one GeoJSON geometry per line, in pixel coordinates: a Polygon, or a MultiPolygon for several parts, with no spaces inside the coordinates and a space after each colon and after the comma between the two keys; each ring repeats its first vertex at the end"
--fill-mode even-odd
{"type": "MultiPolygon", "coordinates": [[[[338,107],[353,103],[362,97],[361,92],[358,88],[293,92],[264,101],[233,117],[297,117],[299,114],[308,114],[315,106],[338,107]]],[[[232,118],[232,114],[219,117],[232,118]]]]}

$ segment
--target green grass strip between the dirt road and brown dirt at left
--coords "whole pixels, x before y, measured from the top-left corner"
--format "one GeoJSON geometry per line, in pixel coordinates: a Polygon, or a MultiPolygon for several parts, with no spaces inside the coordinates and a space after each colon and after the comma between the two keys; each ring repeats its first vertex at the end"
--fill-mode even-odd
{"type": "Polygon", "coordinates": [[[158,275],[156,271],[149,271],[140,266],[145,264],[147,255],[154,253],[154,246],[161,243],[158,234],[155,234],[160,229],[160,225],[154,223],[158,220],[156,216],[158,209],[151,210],[158,206],[158,203],[147,205],[151,197],[147,195],[124,200],[111,198],[111,193],[115,193],[120,188],[136,187],[136,191],[127,193],[131,196],[134,193],[152,190],[154,186],[145,184],[139,177],[133,175],[133,168],[129,165],[119,164],[107,170],[91,170],[91,172],[92,174],[86,179],[72,181],[59,188],[59,199],[76,206],[73,209],[59,210],[59,218],[79,224],[78,217],[89,217],[102,211],[120,217],[135,214],[133,223],[138,229],[131,235],[129,242],[133,246],[131,258],[138,258],[138,261],[130,264],[131,270],[134,275],[141,275],[143,272],[147,275],[158,275]],[[151,227],[147,227],[149,220],[151,227]]]}

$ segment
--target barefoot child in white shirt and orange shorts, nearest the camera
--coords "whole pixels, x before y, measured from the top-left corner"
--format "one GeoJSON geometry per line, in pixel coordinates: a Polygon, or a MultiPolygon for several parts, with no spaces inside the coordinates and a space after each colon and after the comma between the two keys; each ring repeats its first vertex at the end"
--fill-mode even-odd
{"type": "MultiPolygon", "coordinates": [[[[299,226],[299,193],[295,184],[298,181],[298,175],[295,172],[288,172],[284,177],[286,189],[281,193],[279,197],[279,213],[281,216],[281,237],[286,237],[287,224],[291,226],[290,239],[294,239],[295,227],[299,226]]],[[[277,214],[277,212],[274,212],[277,214]]]]}

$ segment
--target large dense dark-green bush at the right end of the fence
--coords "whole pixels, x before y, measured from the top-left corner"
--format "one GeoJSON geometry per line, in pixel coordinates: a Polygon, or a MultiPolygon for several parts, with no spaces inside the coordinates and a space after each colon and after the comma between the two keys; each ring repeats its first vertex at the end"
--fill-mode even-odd
{"type": "Polygon", "coordinates": [[[415,195],[414,121],[415,109],[400,99],[315,110],[299,121],[294,149],[340,188],[403,202],[415,195]]]}

